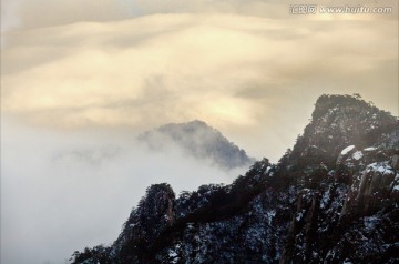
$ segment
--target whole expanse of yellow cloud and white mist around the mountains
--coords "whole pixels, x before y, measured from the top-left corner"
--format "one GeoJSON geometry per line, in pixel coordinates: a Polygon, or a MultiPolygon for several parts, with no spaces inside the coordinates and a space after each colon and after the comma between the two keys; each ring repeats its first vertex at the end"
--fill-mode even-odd
{"type": "Polygon", "coordinates": [[[151,183],[237,175],[149,153],[132,143],[145,130],[198,119],[276,162],[323,93],[399,115],[398,2],[367,1],[393,7],[378,16],[290,4],[2,0],[1,262],[60,263],[111,242],[151,183]]]}

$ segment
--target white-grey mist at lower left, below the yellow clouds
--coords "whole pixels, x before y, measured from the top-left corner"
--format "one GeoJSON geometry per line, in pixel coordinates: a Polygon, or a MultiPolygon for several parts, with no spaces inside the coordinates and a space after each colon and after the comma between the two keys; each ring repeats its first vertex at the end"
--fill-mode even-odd
{"type": "Polygon", "coordinates": [[[65,263],[75,250],[111,244],[151,184],[167,182],[178,195],[247,170],[222,170],[170,143],[154,152],[135,135],[3,119],[1,263],[65,263]]]}

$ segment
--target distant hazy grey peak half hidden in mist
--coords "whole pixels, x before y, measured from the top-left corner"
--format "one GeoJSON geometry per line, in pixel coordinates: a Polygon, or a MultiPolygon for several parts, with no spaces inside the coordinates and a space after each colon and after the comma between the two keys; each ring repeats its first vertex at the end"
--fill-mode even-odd
{"type": "Polygon", "coordinates": [[[200,160],[207,159],[224,169],[249,166],[254,162],[244,150],[229,142],[219,131],[198,120],[165,124],[141,134],[139,140],[152,150],[161,150],[172,143],[182,148],[187,155],[200,160]]]}

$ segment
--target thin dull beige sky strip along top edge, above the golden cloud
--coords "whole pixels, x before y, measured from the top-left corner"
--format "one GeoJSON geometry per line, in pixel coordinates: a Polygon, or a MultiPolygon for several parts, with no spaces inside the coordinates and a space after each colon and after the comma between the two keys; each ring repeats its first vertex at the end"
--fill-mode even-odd
{"type": "Polygon", "coordinates": [[[2,30],[53,27],[81,21],[112,21],[157,13],[229,13],[288,20],[397,20],[396,0],[319,0],[317,7],[392,7],[391,13],[293,16],[290,7],[314,4],[307,1],[279,0],[3,0],[2,30]]]}

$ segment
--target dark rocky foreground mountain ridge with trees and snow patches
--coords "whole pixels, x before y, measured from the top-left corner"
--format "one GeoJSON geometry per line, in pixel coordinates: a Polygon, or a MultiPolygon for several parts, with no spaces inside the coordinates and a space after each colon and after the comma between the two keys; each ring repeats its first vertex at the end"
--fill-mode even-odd
{"type": "Polygon", "coordinates": [[[147,189],[111,246],[72,263],[399,263],[399,123],[323,95],[277,164],[177,197],[147,189]]]}

